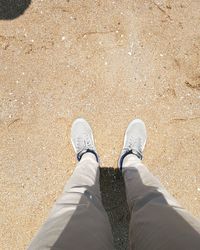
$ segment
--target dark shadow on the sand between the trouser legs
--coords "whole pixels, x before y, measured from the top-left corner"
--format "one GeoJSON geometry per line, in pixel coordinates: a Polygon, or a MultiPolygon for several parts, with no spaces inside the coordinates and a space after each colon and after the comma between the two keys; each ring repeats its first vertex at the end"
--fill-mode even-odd
{"type": "Polygon", "coordinates": [[[100,168],[100,189],[102,202],[112,227],[115,249],[126,250],[130,213],[121,171],[114,168],[100,168]]]}

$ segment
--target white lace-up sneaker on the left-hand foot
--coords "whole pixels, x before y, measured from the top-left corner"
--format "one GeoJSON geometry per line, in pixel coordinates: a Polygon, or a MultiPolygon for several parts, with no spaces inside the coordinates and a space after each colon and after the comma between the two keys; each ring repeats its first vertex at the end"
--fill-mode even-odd
{"type": "Polygon", "coordinates": [[[73,122],[71,128],[71,142],[77,154],[78,161],[81,160],[83,154],[90,152],[96,156],[98,162],[92,129],[85,119],[78,118],[73,122]]]}

